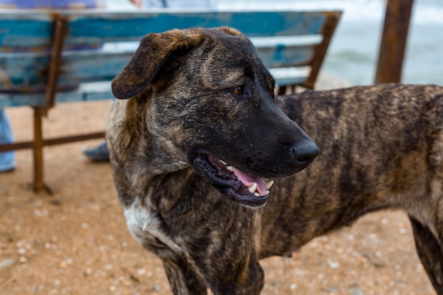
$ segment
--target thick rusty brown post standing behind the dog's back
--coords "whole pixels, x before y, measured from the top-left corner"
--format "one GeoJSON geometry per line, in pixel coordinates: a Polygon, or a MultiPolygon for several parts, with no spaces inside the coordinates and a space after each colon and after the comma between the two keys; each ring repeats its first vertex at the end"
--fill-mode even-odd
{"type": "Polygon", "coordinates": [[[388,0],[375,83],[399,83],[414,0],[388,0]]]}

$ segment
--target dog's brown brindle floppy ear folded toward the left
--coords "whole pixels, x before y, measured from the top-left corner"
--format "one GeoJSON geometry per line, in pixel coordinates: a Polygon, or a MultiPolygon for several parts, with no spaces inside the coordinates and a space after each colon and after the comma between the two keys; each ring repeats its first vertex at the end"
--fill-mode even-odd
{"type": "Polygon", "coordinates": [[[146,35],[130,62],[113,79],[114,96],[120,99],[136,96],[149,86],[173,52],[195,47],[202,40],[199,30],[169,30],[146,35]]]}

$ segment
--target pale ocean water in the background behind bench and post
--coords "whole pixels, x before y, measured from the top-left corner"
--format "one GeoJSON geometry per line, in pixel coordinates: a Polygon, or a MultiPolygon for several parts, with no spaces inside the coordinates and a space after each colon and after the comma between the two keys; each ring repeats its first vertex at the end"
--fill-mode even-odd
{"type": "MultiPolygon", "coordinates": [[[[192,0],[190,0],[192,1],[192,0]]],[[[111,10],[134,9],[128,0],[107,0],[111,10]]],[[[323,70],[352,84],[374,82],[386,0],[219,0],[221,10],[341,9],[323,70]]],[[[402,82],[443,85],[443,1],[415,0],[402,82]]]]}

